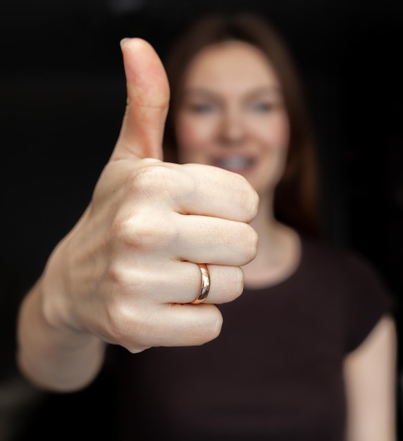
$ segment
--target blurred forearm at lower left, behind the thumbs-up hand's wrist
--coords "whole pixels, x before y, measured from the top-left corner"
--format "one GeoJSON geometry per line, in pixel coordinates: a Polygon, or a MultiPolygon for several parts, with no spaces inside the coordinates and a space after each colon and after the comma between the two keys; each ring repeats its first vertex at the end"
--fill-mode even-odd
{"type": "Polygon", "coordinates": [[[18,317],[21,371],[39,387],[70,392],[88,385],[104,361],[105,343],[94,335],[56,328],[46,321],[42,279],[27,294],[18,317]]]}

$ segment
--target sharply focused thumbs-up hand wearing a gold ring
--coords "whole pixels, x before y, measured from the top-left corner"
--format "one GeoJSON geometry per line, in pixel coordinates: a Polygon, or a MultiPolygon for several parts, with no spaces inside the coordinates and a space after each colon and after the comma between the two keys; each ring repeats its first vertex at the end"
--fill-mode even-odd
{"type": "Polygon", "coordinates": [[[130,352],[215,338],[214,304],[243,288],[240,266],[256,255],[256,192],[220,168],[162,161],[169,87],[154,49],[122,45],[128,104],[92,201],[56,247],[42,278],[51,325],[96,335],[130,352]],[[203,304],[195,263],[206,263],[203,304]]]}

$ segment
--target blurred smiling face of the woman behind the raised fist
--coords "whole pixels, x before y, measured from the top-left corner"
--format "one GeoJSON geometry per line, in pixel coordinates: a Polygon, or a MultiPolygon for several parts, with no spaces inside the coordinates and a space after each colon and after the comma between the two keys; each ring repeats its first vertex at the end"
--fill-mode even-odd
{"type": "Polygon", "coordinates": [[[251,44],[203,49],[185,75],[176,119],[179,160],[243,175],[272,193],[285,167],[289,122],[280,82],[251,44]]]}

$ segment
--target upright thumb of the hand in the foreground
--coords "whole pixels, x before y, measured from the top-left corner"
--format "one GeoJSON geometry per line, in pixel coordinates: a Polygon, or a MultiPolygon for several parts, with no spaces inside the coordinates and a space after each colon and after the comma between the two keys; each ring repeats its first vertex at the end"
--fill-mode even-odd
{"type": "Polygon", "coordinates": [[[169,104],[165,69],[151,44],[141,38],[120,42],[126,75],[127,104],[112,160],[162,159],[162,139],[169,104]]]}

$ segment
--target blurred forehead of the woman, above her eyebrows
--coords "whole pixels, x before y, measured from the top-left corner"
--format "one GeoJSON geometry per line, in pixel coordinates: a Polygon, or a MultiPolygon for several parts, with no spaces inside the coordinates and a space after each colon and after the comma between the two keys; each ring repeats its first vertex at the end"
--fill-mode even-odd
{"type": "Polygon", "coordinates": [[[185,75],[185,89],[225,90],[278,87],[280,82],[266,54],[246,42],[230,41],[202,49],[185,75]]]}

